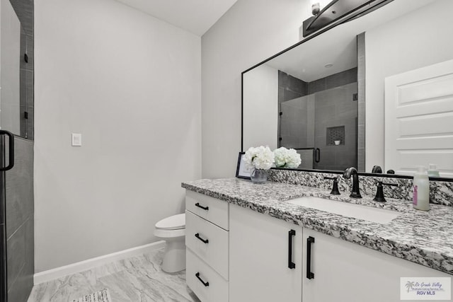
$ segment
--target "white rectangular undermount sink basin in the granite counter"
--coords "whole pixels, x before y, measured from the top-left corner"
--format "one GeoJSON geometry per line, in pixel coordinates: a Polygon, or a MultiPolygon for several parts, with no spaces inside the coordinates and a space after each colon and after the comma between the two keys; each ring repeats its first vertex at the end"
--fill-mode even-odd
{"type": "Polygon", "coordinates": [[[335,200],[323,199],[319,197],[300,197],[288,200],[290,204],[297,204],[302,207],[309,207],[320,211],[326,211],[333,214],[363,219],[377,223],[389,223],[400,213],[386,209],[362,206],[360,204],[350,204],[348,202],[337,202],[335,200]]]}

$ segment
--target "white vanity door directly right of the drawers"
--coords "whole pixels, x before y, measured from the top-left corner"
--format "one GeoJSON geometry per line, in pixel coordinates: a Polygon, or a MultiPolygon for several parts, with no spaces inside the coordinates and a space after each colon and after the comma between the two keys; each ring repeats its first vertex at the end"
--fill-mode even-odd
{"type": "Polygon", "coordinates": [[[229,301],[301,302],[302,228],[233,204],[229,226],[229,301]]]}

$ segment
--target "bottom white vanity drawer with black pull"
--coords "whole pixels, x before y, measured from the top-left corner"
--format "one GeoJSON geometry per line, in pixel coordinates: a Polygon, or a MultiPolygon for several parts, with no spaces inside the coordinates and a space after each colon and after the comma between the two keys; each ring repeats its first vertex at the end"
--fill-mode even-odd
{"type": "Polygon", "coordinates": [[[228,302],[228,281],[189,249],[186,249],[186,260],[185,280],[200,301],[228,302]]]}

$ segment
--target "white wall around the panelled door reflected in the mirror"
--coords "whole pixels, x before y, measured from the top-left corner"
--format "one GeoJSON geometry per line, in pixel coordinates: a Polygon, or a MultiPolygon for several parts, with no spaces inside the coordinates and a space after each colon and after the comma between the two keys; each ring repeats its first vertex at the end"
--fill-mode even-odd
{"type": "MultiPolygon", "coordinates": [[[[384,167],[384,79],[453,59],[453,1],[437,0],[365,33],[365,166],[384,167]]],[[[386,169],[391,167],[386,167],[386,169]]]]}

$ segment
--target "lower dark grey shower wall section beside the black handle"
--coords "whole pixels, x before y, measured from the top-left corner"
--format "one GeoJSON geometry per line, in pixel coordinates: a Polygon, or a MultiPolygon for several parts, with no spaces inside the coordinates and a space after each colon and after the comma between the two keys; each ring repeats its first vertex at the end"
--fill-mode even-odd
{"type": "Polygon", "coordinates": [[[33,141],[14,139],[15,165],[6,172],[8,301],[27,301],[34,273],[33,141]]]}

